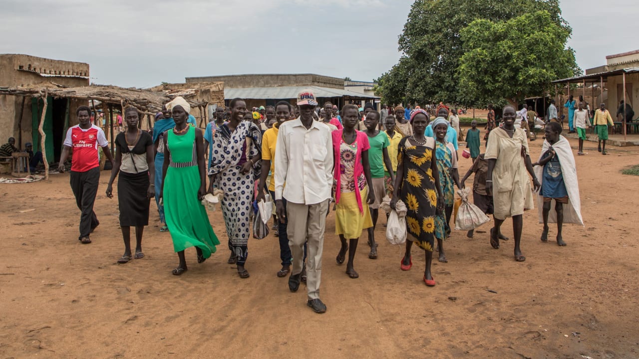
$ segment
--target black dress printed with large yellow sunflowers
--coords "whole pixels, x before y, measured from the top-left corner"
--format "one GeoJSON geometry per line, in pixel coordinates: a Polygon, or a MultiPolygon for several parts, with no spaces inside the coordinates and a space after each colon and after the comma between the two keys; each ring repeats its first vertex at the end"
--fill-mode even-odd
{"type": "Polygon", "coordinates": [[[397,163],[404,165],[404,178],[399,191],[406,212],[406,232],[408,240],[433,252],[435,244],[435,210],[437,191],[431,171],[431,158],[435,143],[427,139],[425,146],[413,146],[404,137],[397,149],[397,163]]]}

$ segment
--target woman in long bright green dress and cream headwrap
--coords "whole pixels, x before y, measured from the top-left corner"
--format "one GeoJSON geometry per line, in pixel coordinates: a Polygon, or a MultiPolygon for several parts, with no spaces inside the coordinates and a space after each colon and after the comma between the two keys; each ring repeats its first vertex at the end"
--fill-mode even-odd
{"type": "Polygon", "coordinates": [[[202,130],[187,125],[190,106],[176,97],[166,104],[173,112],[175,127],[164,134],[164,165],[162,192],[166,224],[173,238],[173,248],[180,257],[174,275],[187,271],[184,250],[196,247],[197,263],[203,263],[212,253],[217,240],[208,215],[201,204],[206,194],[206,164],[202,130]]]}

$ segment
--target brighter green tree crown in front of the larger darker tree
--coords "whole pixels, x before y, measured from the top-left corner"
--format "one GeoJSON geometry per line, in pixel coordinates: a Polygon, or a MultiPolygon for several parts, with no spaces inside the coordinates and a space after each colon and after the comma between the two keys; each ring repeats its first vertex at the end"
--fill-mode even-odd
{"type": "Polygon", "coordinates": [[[573,50],[566,49],[569,36],[570,31],[555,24],[545,10],[507,21],[473,21],[461,31],[461,99],[520,102],[549,90],[552,80],[578,71],[573,50]]]}

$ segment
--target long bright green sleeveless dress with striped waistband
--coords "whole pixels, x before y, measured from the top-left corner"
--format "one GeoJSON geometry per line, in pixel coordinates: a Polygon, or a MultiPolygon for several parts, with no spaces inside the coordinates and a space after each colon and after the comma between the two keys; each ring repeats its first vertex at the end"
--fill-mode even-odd
{"type": "Polygon", "coordinates": [[[189,247],[202,250],[204,258],[215,253],[220,244],[208,220],[206,209],[197,199],[200,174],[197,167],[196,129],[189,126],[178,136],[167,131],[167,146],[171,153],[164,178],[164,215],[173,238],[175,252],[189,247]]]}

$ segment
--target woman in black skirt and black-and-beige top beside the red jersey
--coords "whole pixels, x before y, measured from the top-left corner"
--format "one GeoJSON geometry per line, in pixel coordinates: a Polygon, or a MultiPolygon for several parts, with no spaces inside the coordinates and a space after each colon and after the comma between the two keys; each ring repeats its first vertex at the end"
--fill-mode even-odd
{"type": "Polygon", "coordinates": [[[142,253],[142,232],[149,224],[149,202],[155,196],[155,166],[153,162],[153,139],[148,132],[138,127],[140,115],[135,107],[125,109],[127,131],[116,137],[116,156],[111,179],[107,187],[107,197],[113,198],[112,184],[119,172],[118,206],[120,227],[124,238],[124,254],[118,263],[131,260],[131,231],[135,227],[135,256],[142,253]]]}

